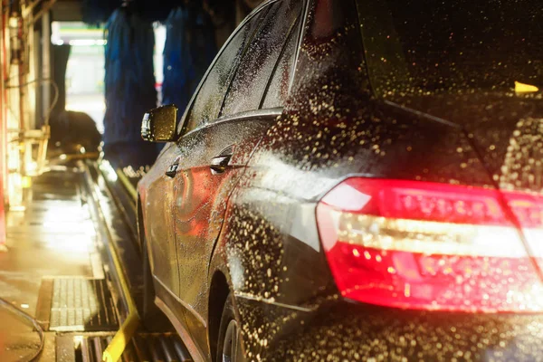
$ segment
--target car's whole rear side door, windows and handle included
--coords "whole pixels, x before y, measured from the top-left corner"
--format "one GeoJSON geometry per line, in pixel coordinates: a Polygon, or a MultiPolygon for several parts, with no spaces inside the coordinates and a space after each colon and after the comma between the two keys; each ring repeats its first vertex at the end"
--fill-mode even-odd
{"type": "Polygon", "coordinates": [[[178,297],[191,333],[205,332],[207,268],[228,195],[252,150],[281,114],[279,102],[269,102],[267,109],[262,104],[267,91],[278,88],[271,75],[284,67],[281,55],[287,40],[298,37],[300,13],[300,1],[280,0],[253,14],[217,57],[186,115],[192,129],[177,145],[173,223],[178,297]],[[221,90],[222,96],[217,94],[221,90]]]}

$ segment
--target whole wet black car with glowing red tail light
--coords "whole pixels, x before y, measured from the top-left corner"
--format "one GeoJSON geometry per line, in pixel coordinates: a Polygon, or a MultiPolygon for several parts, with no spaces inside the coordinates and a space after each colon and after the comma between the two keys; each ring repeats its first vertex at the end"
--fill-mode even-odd
{"type": "Polygon", "coordinates": [[[264,2],[146,115],[145,318],[197,361],[543,360],[542,40],[535,0],[264,2]]]}

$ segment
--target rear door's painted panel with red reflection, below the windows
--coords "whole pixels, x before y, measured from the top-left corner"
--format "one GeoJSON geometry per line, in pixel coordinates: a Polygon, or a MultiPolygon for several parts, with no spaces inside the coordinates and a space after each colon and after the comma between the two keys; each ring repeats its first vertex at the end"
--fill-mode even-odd
{"type": "Polygon", "coordinates": [[[243,175],[243,165],[251,150],[269,127],[270,120],[275,118],[275,115],[251,117],[195,130],[194,137],[201,139],[192,148],[180,148],[190,150],[190,154],[179,156],[187,161],[174,180],[178,296],[195,310],[186,313],[193,333],[204,332],[207,324],[201,310],[206,310],[208,294],[202,291],[209,289],[208,264],[224,222],[226,200],[243,175]],[[222,173],[212,173],[210,160],[221,155],[231,155],[228,167],[222,173]]]}

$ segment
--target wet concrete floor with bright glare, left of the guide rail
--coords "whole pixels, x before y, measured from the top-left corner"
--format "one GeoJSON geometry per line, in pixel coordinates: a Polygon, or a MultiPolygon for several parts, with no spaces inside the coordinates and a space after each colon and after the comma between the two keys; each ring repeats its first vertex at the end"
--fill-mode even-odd
{"type": "MultiPolygon", "coordinates": [[[[26,210],[7,214],[8,252],[0,253],[0,298],[33,317],[43,278],[103,278],[94,225],[81,204],[80,177],[60,170],[36,178],[26,210]]],[[[29,322],[0,308],[0,361],[28,360],[39,340],[29,322]]],[[[38,360],[55,360],[52,332],[38,360]]]]}

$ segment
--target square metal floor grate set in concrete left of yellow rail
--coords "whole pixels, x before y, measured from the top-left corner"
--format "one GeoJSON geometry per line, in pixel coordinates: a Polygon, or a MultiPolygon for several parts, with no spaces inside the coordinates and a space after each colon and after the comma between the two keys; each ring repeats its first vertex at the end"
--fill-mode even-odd
{"type": "Polygon", "coordinates": [[[116,330],[119,323],[105,279],[59,278],[53,281],[49,329],[116,330]]]}

